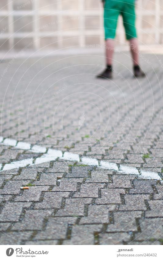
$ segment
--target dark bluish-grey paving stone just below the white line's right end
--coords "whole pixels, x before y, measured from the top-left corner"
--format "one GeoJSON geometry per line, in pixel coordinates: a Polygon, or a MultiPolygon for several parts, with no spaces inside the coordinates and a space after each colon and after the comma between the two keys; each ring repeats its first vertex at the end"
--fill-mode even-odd
{"type": "Polygon", "coordinates": [[[154,190],[152,188],[152,185],[156,185],[156,181],[154,180],[135,180],[134,183],[134,189],[131,189],[129,191],[130,194],[153,194],[154,190]]]}

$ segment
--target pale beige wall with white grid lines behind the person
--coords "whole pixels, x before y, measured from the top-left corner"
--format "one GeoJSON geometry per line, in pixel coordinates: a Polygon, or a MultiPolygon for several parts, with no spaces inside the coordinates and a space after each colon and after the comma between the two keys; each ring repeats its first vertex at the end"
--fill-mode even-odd
{"type": "MultiPolygon", "coordinates": [[[[140,42],[162,43],[163,0],[137,0],[136,5],[140,42]]],[[[0,50],[103,44],[102,16],[100,0],[0,0],[0,50]]],[[[120,21],[116,40],[125,43],[120,21]]]]}

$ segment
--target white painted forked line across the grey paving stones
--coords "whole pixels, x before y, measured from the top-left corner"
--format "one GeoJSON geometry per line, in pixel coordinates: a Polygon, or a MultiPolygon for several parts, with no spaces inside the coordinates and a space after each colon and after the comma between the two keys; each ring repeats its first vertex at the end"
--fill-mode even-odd
{"type": "Polygon", "coordinates": [[[161,180],[161,177],[158,175],[157,172],[140,171],[139,173],[137,168],[128,167],[121,164],[120,164],[120,168],[118,168],[118,165],[116,163],[110,163],[107,161],[97,160],[90,157],[81,156],[80,158],[80,156],[76,153],[69,153],[69,152],[62,153],[61,150],[55,150],[50,148],[46,149],[46,147],[40,145],[32,146],[26,142],[17,142],[14,139],[9,139],[9,138],[4,139],[3,137],[0,137],[0,143],[2,145],[14,146],[17,149],[24,149],[24,150],[29,149],[30,152],[44,153],[41,157],[36,158],[35,161],[33,160],[33,158],[29,158],[29,159],[5,164],[4,166],[0,164],[1,171],[16,169],[19,167],[26,167],[27,165],[31,166],[35,164],[41,164],[44,162],[54,161],[58,158],[67,161],[77,161],[77,162],[81,161],[83,164],[98,166],[98,168],[105,169],[105,170],[118,171],[118,173],[122,173],[122,174],[139,175],[139,177],[142,179],[161,180]]]}

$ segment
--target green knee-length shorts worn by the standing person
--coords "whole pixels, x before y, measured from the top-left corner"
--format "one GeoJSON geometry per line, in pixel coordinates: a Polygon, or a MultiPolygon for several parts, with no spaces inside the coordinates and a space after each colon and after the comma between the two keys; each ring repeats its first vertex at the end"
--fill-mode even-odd
{"type": "Polygon", "coordinates": [[[106,0],[104,6],[105,39],[116,36],[118,16],[122,15],[126,39],[136,38],[135,0],[106,0]]]}

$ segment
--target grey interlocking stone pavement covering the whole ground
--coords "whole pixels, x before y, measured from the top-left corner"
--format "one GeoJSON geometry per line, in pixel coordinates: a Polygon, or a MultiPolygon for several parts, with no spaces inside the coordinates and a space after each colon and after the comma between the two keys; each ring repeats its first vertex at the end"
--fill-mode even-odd
{"type": "Polygon", "coordinates": [[[1,244],[163,244],[163,58],[143,56],[139,80],[127,52],[115,55],[112,81],[95,78],[98,54],[1,62],[1,244]],[[48,149],[118,170],[42,162],[48,149]],[[38,163],[5,170],[26,159],[38,163]]]}

